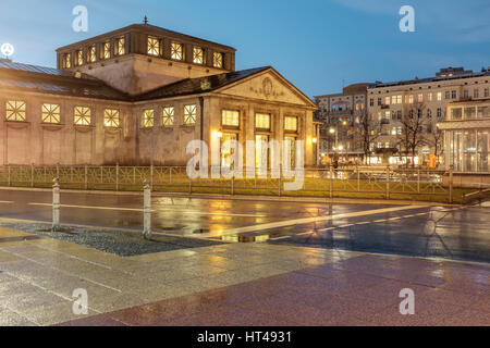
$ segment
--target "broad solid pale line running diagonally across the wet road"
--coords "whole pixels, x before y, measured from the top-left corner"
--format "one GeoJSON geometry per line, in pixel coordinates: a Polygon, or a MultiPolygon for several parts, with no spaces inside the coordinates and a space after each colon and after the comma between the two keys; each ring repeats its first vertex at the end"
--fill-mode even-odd
{"type": "MultiPolygon", "coordinates": [[[[228,236],[228,235],[235,235],[235,234],[238,234],[238,233],[257,232],[257,231],[280,228],[280,227],[286,227],[286,226],[304,225],[304,224],[310,224],[310,223],[329,221],[329,220],[335,220],[335,219],[367,216],[367,215],[382,214],[382,213],[388,213],[388,212],[393,212],[393,211],[413,210],[413,209],[421,209],[421,208],[427,208],[427,206],[405,206],[405,207],[394,207],[394,208],[364,210],[364,211],[357,211],[357,212],[344,213],[344,214],[336,214],[336,215],[328,215],[328,216],[302,217],[302,219],[294,219],[294,220],[285,220],[285,221],[271,222],[271,223],[266,223],[266,224],[260,224],[260,225],[253,225],[253,226],[244,226],[244,227],[231,228],[231,229],[228,229],[228,231],[223,231],[219,235],[220,236],[228,236]]],[[[199,237],[200,238],[209,238],[209,237],[211,237],[213,235],[215,234],[207,233],[207,234],[201,234],[199,237]]]]}

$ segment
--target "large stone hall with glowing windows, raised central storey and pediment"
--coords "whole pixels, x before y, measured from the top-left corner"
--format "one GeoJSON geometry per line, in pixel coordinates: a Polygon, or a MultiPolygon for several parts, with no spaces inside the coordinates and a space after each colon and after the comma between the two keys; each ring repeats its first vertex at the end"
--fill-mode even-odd
{"type": "Polygon", "coordinates": [[[186,165],[196,139],[304,140],[316,163],[316,104],[273,67],[235,71],[231,47],[145,23],[57,57],[0,61],[0,163],[186,165]]]}

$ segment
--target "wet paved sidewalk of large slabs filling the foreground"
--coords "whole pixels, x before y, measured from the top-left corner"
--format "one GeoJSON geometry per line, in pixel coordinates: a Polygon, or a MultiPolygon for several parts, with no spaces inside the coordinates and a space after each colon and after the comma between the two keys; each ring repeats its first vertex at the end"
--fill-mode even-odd
{"type": "Polygon", "coordinates": [[[268,244],[120,258],[0,227],[0,325],[54,324],[490,325],[490,265],[268,244]]]}

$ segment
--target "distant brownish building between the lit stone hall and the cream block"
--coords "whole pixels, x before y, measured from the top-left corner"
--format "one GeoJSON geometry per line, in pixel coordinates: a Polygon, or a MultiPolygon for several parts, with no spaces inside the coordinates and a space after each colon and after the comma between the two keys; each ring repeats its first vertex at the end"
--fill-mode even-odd
{"type": "Polygon", "coordinates": [[[320,152],[339,153],[350,159],[364,153],[359,138],[362,117],[366,115],[368,84],[354,84],[343,88],[342,94],[315,97],[320,125],[320,152]]]}

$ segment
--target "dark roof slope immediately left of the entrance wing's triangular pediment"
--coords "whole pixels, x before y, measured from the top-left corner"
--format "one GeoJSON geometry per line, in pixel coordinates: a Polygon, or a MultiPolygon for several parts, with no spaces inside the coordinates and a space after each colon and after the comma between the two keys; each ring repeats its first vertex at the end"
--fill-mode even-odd
{"type": "Polygon", "coordinates": [[[238,72],[211,75],[206,77],[186,78],[138,95],[136,97],[136,100],[152,100],[152,99],[205,94],[213,91],[226,85],[233,84],[237,80],[255,75],[268,69],[271,67],[262,66],[243,70],[238,72]]]}

